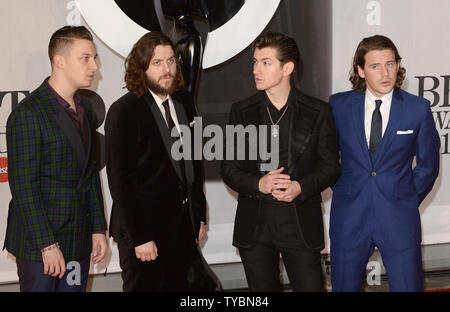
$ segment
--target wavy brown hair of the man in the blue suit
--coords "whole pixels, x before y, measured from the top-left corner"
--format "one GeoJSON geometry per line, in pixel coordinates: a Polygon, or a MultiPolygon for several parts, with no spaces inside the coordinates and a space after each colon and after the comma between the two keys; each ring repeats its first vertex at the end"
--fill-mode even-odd
{"type": "MultiPolygon", "coordinates": [[[[381,35],[375,35],[372,37],[364,38],[358,45],[356,49],[355,56],[353,57],[353,68],[350,73],[350,82],[352,83],[352,89],[357,92],[366,91],[366,80],[361,78],[358,74],[358,66],[364,68],[366,64],[365,56],[368,52],[373,50],[391,50],[394,52],[395,61],[398,63],[402,60],[400,54],[398,53],[397,47],[392,42],[391,39],[381,35]]],[[[400,89],[403,81],[405,80],[406,69],[404,67],[399,68],[397,73],[397,81],[395,83],[395,88],[400,89]]]]}

